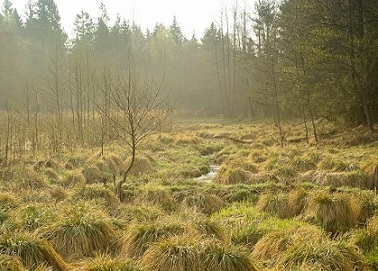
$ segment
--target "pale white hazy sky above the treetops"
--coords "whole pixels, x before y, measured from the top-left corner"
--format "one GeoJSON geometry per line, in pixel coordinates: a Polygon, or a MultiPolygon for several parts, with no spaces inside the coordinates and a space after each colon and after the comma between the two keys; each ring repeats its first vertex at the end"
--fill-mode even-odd
{"type": "MultiPolygon", "coordinates": [[[[12,0],[22,16],[26,1],[12,0]]],[[[222,7],[235,5],[235,0],[55,0],[65,31],[72,35],[73,22],[81,10],[97,18],[101,2],[107,7],[111,22],[120,14],[122,18],[137,22],[144,30],[152,30],[156,22],[170,25],[175,15],[187,38],[191,38],[193,32],[197,37],[202,37],[210,23],[218,21],[222,7]]]]}

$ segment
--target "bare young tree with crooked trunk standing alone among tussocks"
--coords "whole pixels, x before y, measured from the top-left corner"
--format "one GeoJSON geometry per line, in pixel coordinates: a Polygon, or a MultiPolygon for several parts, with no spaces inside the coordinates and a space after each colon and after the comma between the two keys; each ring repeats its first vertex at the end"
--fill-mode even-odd
{"type": "Polygon", "coordinates": [[[167,117],[166,97],[161,84],[142,80],[129,65],[126,72],[118,72],[109,91],[110,110],[100,109],[117,137],[125,144],[131,159],[116,182],[116,193],[122,200],[122,185],[126,182],[137,156],[137,147],[159,130],[167,117]]]}

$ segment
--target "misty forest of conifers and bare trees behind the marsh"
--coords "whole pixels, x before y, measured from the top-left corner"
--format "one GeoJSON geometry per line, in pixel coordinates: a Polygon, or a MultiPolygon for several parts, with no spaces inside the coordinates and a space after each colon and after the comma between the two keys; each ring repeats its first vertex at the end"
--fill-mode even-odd
{"type": "Polygon", "coordinates": [[[315,140],[319,117],[374,130],[377,1],[257,0],[253,7],[235,1],[219,10],[200,38],[187,38],[176,18],[143,31],[119,16],[110,23],[101,4],[97,18],[77,14],[69,38],[53,0],[28,1],[23,18],[4,0],[4,134],[23,134],[34,148],[43,141],[57,149],[63,137],[94,144],[99,116],[130,74],[139,83],[154,82],[188,114],[272,118],[282,140],[281,122],[288,118],[303,119],[306,138],[312,133],[315,140]],[[48,141],[38,138],[44,113],[48,141]],[[65,125],[68,120],[73,125],[65,125]],[[12,132],[15,122],[22,131],[12,132]]]}

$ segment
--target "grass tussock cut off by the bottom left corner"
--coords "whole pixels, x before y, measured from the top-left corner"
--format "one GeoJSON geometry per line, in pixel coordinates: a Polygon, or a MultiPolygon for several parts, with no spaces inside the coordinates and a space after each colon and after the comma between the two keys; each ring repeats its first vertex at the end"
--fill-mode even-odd
{"type": "Polygon", "coordinates": [[[27,269],[46,264],[56,271],[67,271],[68,266],[51,245],[34,234],[13,232],[0,237],[2,255],[19,257],[27,269]]]}

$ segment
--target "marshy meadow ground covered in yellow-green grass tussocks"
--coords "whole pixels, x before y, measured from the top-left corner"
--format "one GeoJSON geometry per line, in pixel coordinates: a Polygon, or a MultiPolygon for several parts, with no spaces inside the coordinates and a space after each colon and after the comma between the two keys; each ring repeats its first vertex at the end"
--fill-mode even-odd
{"type": "Polygon", "coordinates": [[[319,124],[185,120],[0,168],[1,270],[376,270],[378,141],[319,124]],[[8,269],[7,269],[8,268],[8,269]],[[9,269],[11,268],[11,269],[9,269]]]}

